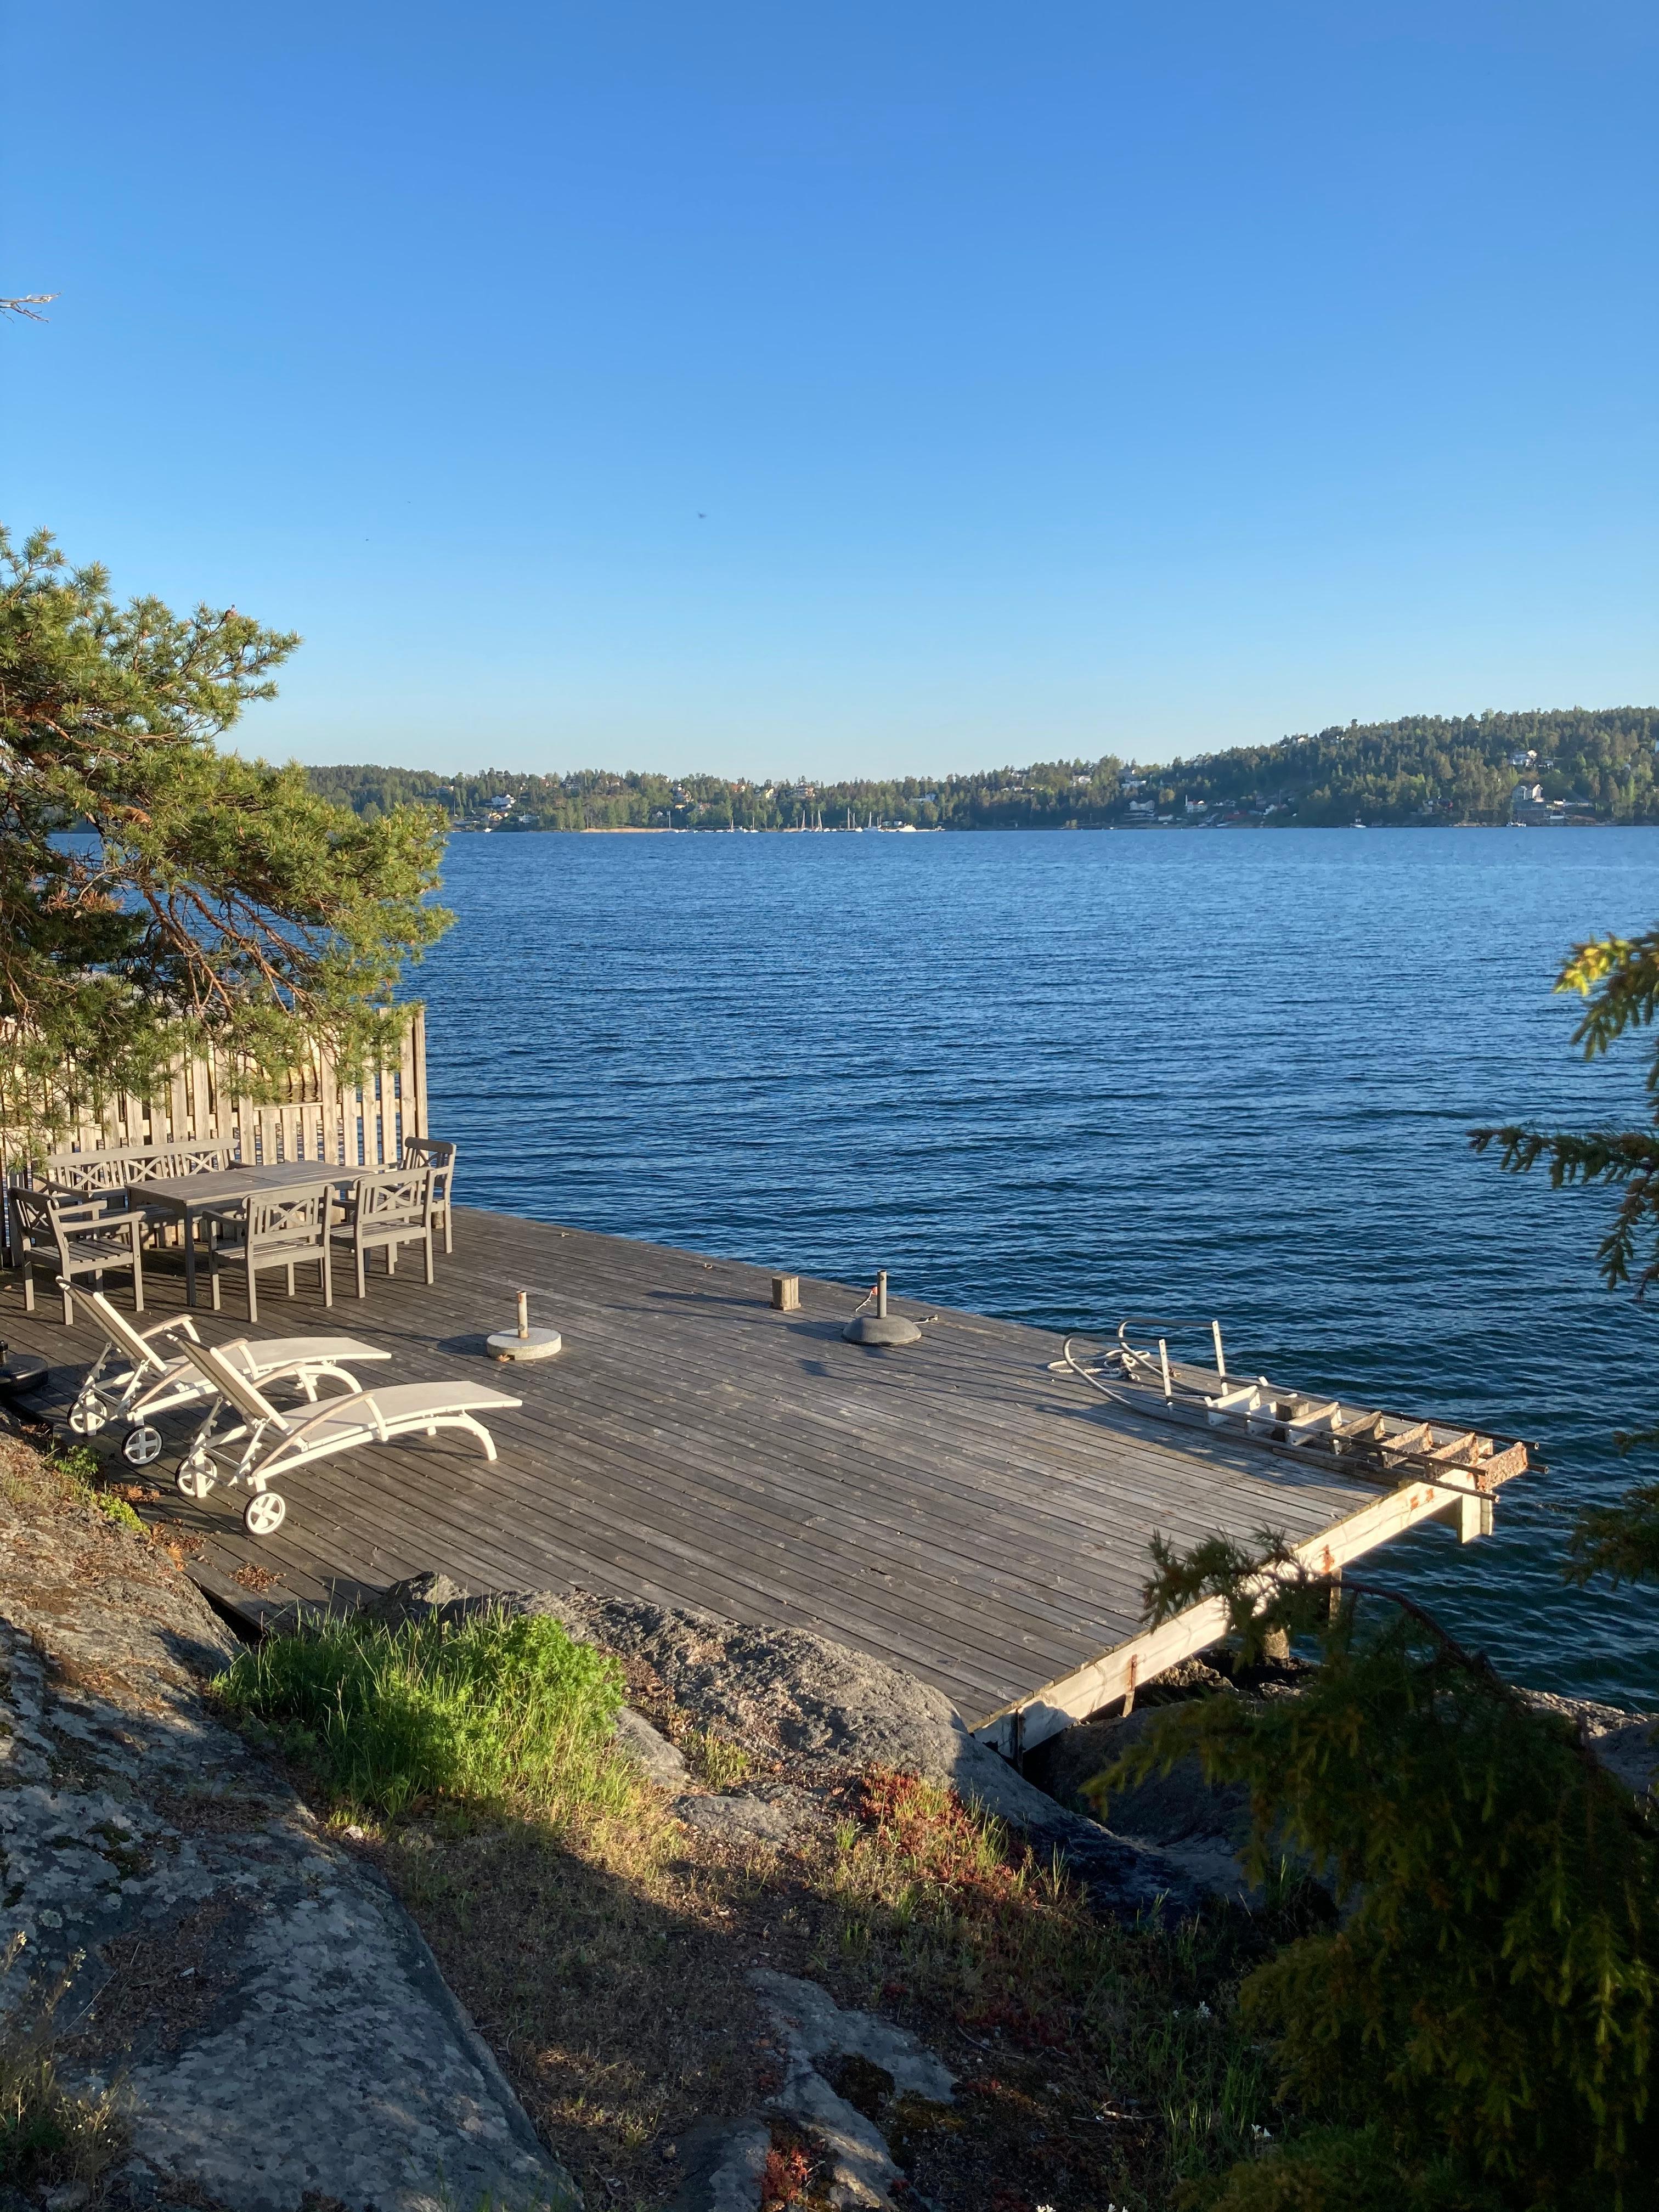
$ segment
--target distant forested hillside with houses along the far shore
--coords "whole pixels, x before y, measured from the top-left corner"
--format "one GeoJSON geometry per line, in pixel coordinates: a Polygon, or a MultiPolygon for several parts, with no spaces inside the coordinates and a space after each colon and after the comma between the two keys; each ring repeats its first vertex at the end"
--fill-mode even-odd
{"type": "Polygon", "coordinates": [[[374,818],[396,805],[442,807],[498,830],[1102,830],[1159,823],[1504,823],[1517,785],[1531,818],[1655,823],[1659,708],[1562,708],[1524,714],[1416,714],[1349,723],[1276,745],[1234,745],[1135,765],[1040,761],[964,776],[741,783],[580,770],[427,774],[407,768],[312,768],[314,790],[374,818]]]}

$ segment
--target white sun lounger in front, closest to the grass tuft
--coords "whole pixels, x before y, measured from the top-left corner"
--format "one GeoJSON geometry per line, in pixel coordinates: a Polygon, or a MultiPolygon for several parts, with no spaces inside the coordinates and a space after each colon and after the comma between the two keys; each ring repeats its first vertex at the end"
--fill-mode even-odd
{"type": "Polygon", "coordinates": [[[186,1340],[181,1349],[215,1391],[215,1405],[179,1467],[179,1489],[186,1498],[206,1498],[219,1480],[215,1453],[246,1438],[241,1458],[226,1480],[246,1482],[254,1493],[241,1515],[248,1535],[274,1535],[281,1528],[288,1506],[270,1484],[296,1467],[332,1460],[361,1444],[436,1436],[438,1429],[469,1429],[484,1447],[484,1458],[493,1460],[495,1440],[473,1413],[507,1413],[524,1402],[484,1383],[394,1383],[354,1398],[330,1398],[314,1411],[281,1413],[257,1383],[237,1374],[210,1345],[186,1340]],[[234,1407],[241,1425],[215,1436],[223,1407],[234,1407]]]}

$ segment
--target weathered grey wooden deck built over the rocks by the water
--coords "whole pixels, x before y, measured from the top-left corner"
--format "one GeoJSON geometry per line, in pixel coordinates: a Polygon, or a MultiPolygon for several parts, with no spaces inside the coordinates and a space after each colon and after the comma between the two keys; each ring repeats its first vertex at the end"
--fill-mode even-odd
{"type": "MultiPolygon", "coordinates": [[[[761,1267],[471,1210],[434,1287],[405,1270],[372,1274],[363,1303],[347,1285],[327,1316],[303,1279],[292,1303],[263,1292],[257,1332],[199,1316],[210,1343],[363,1336],[392,1354],[369,1387],[487,1374],[524,1400],[493,1422],[493,1467],[440,1436],[303,1469],[263,1542],[241,1528],[243,1491],[177,1495],[190,1420],[170,1416],[161,1460],[131,1473],[150,1491],[139,1511],[195,1531],[192,1575],[250,1621],[427,1568],[471,1588],[575,1584],[818,1630],[936,1683],[1018,1752],[1217,1641],[1219,1608],[1144,1632],[1155,1531],[1281,1528],[1327,1571],[1422,1520],[1480,1531],[1429,1482],[1378,1489],[1135,1418],[1048,1371],[1060,1338],[982,1314],[896,1301],[922,1343],[869,1352],[841,1340],[863,1290],[803,1279],[801,1310],[774,1312],[761,1267]],[[487,1365],[520,1287],[564,1352],[487,1365]]],[[[113,1296],[126,1307],[124,1279],[113,1296]]],[[[166,1256],[146,1263],[146,1323],[181,1305],[166,1256]]],[[[0,1336],[51,1360],[40,1402],[58,1411],[102,1343],[84,1303],[64,1329],[44,1285],[24,1316],[15,1279],[0,1336]]]]}

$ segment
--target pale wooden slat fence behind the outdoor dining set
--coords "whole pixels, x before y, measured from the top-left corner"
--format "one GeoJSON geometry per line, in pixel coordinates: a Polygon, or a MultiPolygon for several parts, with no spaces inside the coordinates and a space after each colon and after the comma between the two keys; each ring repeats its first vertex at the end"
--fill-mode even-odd
{"type": "MultiPolygon", "coordinates": [[[[396,1166],[405,1137],[427,1135],[427,1022],[420,1006],[409,1022],[396,1060],[365,1071],[361,1084],[343,1084],[330,1055],[316,1046],[292,1068],[288,1091],[276,1099],[252,1099],[237,1086],[234,1064],[217,1055],[181,1055],[155,1097],[119,1093],[60,1133],[53,1152],[108,1152],[131,1144],[230,1144],[234,1157],[325,1159],[330,1166],[396,1166]]],[[[24,1157],[0,1166],[27,1172],[24,1157]]]]}

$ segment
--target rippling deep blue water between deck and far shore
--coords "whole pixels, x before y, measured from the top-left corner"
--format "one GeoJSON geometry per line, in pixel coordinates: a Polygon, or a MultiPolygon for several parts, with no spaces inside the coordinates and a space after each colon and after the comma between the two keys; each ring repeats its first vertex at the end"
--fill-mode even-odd
{"type": "Polygon", "coordinates": [[[1548,984],[1655,920],[1659,832],[462,836],[445,896],[467,1203],[1051,1327],[1219,1314],[1239,1369],[1537,1438],[1491,1540],[1389,1564],[1513,1677],[1659,1703],[1659,1593],[1559,1579],[1659,1312],[1597,1283],[1601,1194],[1464,1141],[1644,1115],[1641,1044],[1586,1066],[1548,984]]]}

